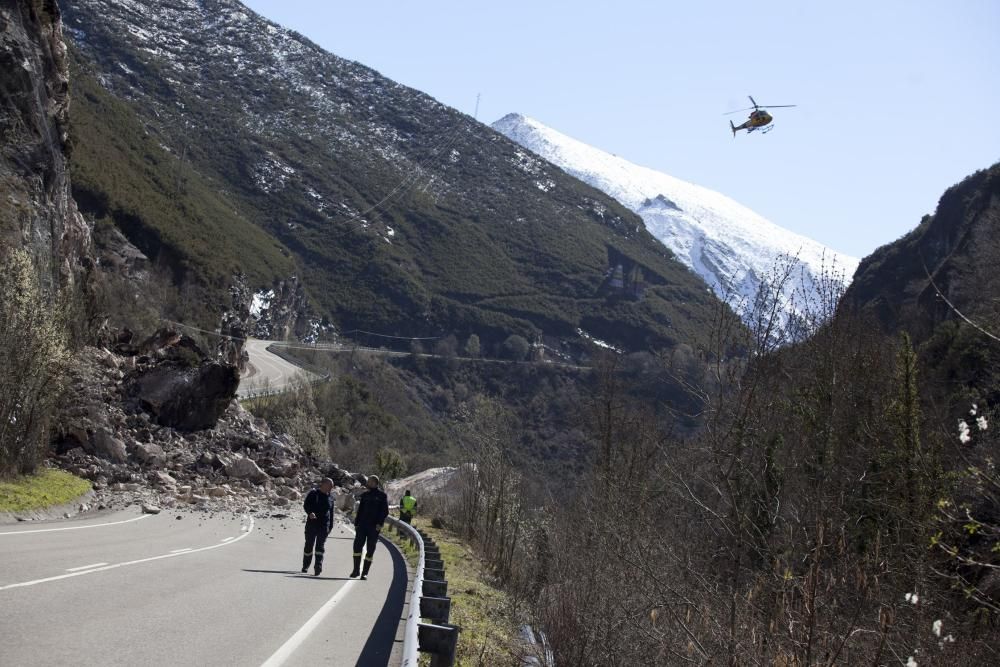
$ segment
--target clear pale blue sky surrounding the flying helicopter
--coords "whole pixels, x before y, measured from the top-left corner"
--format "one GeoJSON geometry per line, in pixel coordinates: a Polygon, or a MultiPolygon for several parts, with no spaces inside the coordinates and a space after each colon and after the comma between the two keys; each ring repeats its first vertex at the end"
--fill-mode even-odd
{"type": "Polygon", "coordinates": [[[857,256],[1000,160],[996,0],[245,1],[466,113],[481,93],[481,121],[532,116],[857,256]],[[748,93],[799,107],[734,140],[748,93]]]}

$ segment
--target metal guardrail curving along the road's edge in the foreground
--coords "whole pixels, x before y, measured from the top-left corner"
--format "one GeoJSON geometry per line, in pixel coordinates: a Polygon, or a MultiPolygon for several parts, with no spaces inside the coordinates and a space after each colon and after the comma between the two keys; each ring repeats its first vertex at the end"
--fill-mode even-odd
{"type": "Polygon", "coordinates": [[[386,521],[417,548],[417,567],[410,592],[410,607],[403,636],[403,667],[417,667],[421,651],[430,653],[431,667],[451,667],[461,628],[450,625],[451,598],[444,576],[444,561],[434,541],[408,523],[389,516],[386,521]],[[426,618],[430,623],[421,623],[426,618]]]}

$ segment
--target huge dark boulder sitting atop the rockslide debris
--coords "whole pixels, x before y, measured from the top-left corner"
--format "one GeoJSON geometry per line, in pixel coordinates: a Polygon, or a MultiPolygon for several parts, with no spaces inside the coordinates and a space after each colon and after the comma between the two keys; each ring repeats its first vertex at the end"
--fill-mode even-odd
{"type": "Polygon", "coordinates": [[[181,431],[213,428],[236,396],[239,372],[216,362],[162,363],[139,373],[129,395],[157,423],[181,431]]]}

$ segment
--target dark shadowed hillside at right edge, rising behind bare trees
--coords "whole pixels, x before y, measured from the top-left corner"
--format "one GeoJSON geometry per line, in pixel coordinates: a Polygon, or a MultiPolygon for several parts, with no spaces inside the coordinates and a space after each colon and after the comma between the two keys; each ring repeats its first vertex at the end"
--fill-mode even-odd
{"type": "Polygon", "coordinates": [[[963,412],[970,402],[996,405],[1000,345],[990,335],[1000,335],[998,261],[1000,163],[949,188],[934,215],[866,257],[841,308],[871,316],[884,331],[907,332],[923,362],[921,381],[939,404],[963,412]]]}

